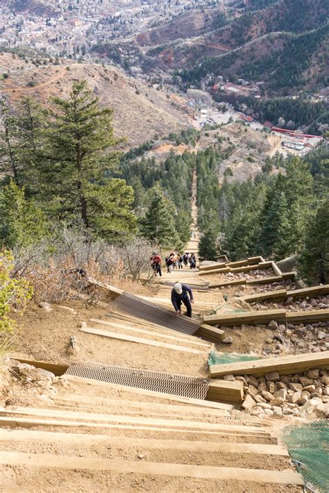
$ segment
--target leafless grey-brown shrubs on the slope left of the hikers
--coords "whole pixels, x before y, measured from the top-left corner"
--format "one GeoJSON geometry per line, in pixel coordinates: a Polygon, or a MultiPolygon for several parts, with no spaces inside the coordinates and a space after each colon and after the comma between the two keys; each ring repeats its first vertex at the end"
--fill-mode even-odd
{"type": "Polygon", "coordinates": [[[96,301],[99,290],[90,287],[88,278],[134,292],[142,274],[144,281],[153,275],[153,249],[144,238],[121,246],[109,245],[103,240],[90,240],[84,231],[64,228],[51,240],[24,249],[17,247],[14,270],[33,285],[33,300],[37,303],[85,299],[86,294],[90,301],[96,301]]]}

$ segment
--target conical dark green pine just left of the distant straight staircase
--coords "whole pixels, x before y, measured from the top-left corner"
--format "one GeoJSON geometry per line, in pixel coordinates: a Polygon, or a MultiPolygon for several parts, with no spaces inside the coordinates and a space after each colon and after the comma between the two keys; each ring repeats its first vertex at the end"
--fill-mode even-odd
{"type": "Polygon", "coordinates": [[[174,222],[173,204],[166,199],[160,185],[149,191],[149,206],[140,220],[140,230],[151,242],[174,249],[179,240],[174,222]]]}

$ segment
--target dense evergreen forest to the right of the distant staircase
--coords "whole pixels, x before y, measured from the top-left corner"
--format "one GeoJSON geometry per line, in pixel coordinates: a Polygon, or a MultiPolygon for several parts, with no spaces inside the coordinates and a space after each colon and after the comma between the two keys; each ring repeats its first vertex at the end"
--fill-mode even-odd
{"type": "Polygon", "coordinates": [[[219,151],[197,158],[201,256],[215,258],[217,248],[233,260],[297,255],[308,282],[328,282],[328,144],[305,158],[277,153],[244,183],[219,184],[220,166],[219,151]]]}

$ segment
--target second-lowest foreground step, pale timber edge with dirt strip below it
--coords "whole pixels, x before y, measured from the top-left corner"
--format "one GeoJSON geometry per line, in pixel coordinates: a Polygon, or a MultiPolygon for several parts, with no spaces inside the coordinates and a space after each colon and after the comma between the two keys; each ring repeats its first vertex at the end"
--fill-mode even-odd
{"type": "Polygon", "coordinates": [[[53,453],[61,456],[143,460],[209,466],[287,469],[289,455],[276,445],[214,444],[106,435],[37,431],[0,431],[0,451],[53,453]]]}

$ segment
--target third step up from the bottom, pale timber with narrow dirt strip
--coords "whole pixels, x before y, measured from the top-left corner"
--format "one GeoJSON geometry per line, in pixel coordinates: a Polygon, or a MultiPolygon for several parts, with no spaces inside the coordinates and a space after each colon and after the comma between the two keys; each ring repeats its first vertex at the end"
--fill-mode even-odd
{"type": "Polygon", "coordinates": [[[35,419],[20,417],[0,417],[0,426],[9,428],[28,428],[35,431],[56,431],[57,433],[93,433],[110,436],[135,438],[202,440],[203,442],[234,442],[246,444],[277,444],[276,437],[267,433],[228,433],[215,431],[195,431],[181,428],[161,428],[149,426],[127,426],[115,424],[92,423],[89,421],[66,421],[53,419],[35,419]]]}

